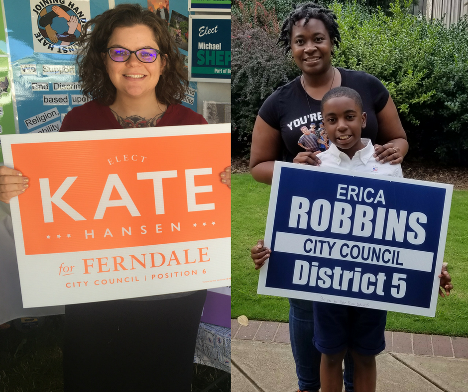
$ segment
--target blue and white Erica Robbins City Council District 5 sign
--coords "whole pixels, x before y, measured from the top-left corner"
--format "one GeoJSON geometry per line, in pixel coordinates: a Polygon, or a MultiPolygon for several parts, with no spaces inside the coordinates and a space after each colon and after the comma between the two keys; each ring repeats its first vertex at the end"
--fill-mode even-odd
{"type": "Polygon", "coordinates": [[[275,162],[258,294],[434,317],[452,189],[275,162]]]}

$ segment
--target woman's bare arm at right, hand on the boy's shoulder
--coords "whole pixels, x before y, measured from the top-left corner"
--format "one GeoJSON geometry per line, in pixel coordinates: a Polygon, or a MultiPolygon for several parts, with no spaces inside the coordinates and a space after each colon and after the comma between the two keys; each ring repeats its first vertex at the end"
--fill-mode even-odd
{"type": "Polygon", "coordinates": [[[408,142],[391,97],[388,97],[387,104],[376,113],[376,117],[378,134],[377,144],[375,144],[375,159],[381,163],[397,164],[403,162],[403,158],[408,152],[408,142]]]}

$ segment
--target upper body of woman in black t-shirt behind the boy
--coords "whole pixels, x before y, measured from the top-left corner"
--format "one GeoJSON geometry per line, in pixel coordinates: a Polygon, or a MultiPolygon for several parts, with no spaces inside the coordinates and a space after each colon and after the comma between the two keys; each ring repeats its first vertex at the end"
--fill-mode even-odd
{"type": "Polygon", "coordinates": [[[268,97],[258,112],[250,152],[250,169],[257,181],[271,183],[273,163],[283,158],[283,147],[286,161],[320,164],[315,153],[303,152],[297,141],[302,127],[316,127],[322,120],[320,101],[338,86],[353,88],[362,97],[368,116],[363,137],[382,145],[375,158],[402,162],[408,143],[388,91],[371,75],[332,66],[341,36],[330,9],[316,3],[300,4],[285,19],[279,41],[286,52],[291,50],[302,75],[268,97]]]}

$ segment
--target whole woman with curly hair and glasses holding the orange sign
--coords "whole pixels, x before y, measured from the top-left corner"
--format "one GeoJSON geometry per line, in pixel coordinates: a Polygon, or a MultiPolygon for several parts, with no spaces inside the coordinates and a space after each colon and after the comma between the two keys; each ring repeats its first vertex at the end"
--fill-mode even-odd
{"type": "MultiPolygon", "coordinates": [[[[156,14],[120,4],[82,31],[79,75],[92,100],[65,116],[61,132],[207,124],[180,104],[187,74],[156,14]]],[[[27,190],[27,180],[0,167],[0,200],[27,190]]],[[[197,291],[66,305],[64,391],[189,392],[205,297],[197,291]]]]}

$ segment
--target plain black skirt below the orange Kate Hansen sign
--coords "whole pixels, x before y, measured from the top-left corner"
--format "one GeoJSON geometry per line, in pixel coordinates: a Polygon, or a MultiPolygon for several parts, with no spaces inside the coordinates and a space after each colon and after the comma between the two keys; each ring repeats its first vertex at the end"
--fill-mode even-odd
{"type": "Polygon", "coordinates": [[[205,298],[67,305],[64,392],[190,392],[205,298]]]}

